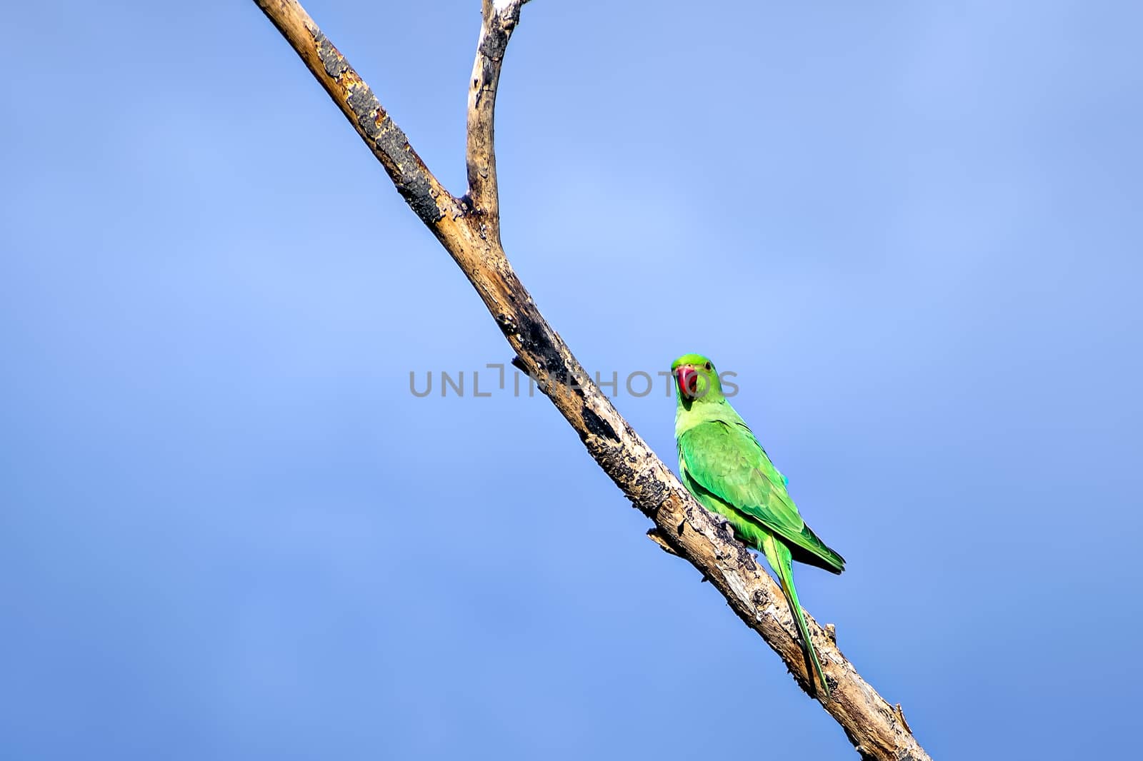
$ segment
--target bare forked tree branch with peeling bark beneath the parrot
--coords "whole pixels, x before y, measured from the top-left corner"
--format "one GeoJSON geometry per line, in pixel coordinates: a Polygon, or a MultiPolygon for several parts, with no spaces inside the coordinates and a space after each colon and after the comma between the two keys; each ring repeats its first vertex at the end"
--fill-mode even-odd
{"type": "MultiPolygon", "coordinates": [[[[454,198],[433,177],[373,91],[295,0],[255,2],[354,126],[409,207],[456,261],[515,351],[513,363],[541,382],[599,466],[655,522],[652,538],[698,569],[735,614],[778,654],[802,690],[816,697],[790,608],[777,584],[720,520],[698,506],[600,392],[536,309],[501,247],[493,112],[504,50],[523,2],[482,1],[483,23],[469,91],[467,202],[454,198]]],[[[900,705],[893,706],[878,695],[841,655],[833,627],[823,631],[808,615],[807,620],[832,688],[829,699],[816,699],[861,755],[885,761],[928,760],[900,705]]]]}

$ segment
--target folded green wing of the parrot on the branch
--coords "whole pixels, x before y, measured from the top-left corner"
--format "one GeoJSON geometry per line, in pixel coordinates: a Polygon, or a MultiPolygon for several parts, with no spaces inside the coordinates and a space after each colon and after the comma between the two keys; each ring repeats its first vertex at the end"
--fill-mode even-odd
{"type": "Polygon", "coordinates": [[[842,571],[845,559],[806,526],[786,492],[785,478],[745,425],[724,420],[695,425],[679,436],[679,459],[684,478],[700,489],[696,496],[709,495],[745,518],[745,524],[736,528],[746,530],[740,532],[751,535],[750,524],[760,523],[793,545],[797,560],[842,571]]]}

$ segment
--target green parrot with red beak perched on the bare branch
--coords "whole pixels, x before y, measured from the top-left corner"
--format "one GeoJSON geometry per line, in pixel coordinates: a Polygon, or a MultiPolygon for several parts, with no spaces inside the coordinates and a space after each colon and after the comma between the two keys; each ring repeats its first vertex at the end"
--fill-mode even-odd
{"type": "Polygon", "coordinates": [[[682,483],[698,504],[725,518],[735,536],[766,554],[828,698],[830,686],[798,602],[791,561],[833,574],[840,574],[846,561],[801,520],[786,494],[786,478],[774,467],[753,432],[722,395],[711,361],[702,354],[684,354],[671,365],[671,375],[678,401],[674,440],[682,483]]]}

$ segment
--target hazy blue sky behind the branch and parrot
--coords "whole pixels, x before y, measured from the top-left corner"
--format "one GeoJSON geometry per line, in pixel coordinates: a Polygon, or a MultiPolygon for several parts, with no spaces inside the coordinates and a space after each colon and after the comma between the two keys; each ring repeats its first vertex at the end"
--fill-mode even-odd
{"type": "MultiPolygon", "coordinates": [[[[478,7],[307,3],[457,193],[478,7]]],[[[253,2],[5,13],[0,755],[855,758],[546,400],[472,396],[507,345],[253,2]]],[[[535,0],[509,50],[521,278],[604,376],[737,373],[935,758],[1136,745],[1141,24],[535,0]]]]}

